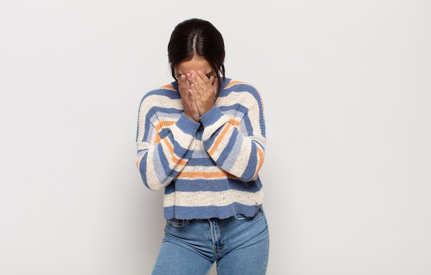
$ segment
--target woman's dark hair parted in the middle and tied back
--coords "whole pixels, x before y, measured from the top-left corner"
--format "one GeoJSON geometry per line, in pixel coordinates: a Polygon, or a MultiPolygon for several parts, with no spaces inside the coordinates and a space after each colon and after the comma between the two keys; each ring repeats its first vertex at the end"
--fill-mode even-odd
{"type": "MultiPolygon", "coordinates": [[[[167,45],[167,53],[174,78],[175,67],[197,55],[205,58],[215,69],[215,74],[222,74],[223,80],[225,79],[223,37],[208,21],[188,19],[176,25],[167,45]]],[[[220,77],[217,79],[220,89],[220,77]]]]}

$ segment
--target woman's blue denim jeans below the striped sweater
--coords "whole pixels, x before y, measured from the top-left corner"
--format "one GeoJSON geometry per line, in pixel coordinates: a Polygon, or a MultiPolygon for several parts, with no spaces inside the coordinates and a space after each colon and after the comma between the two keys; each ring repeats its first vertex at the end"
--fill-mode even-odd
{"type": "Polygon", "coordinates": [[[263,275],[269,232],[262,208],[254,217],[169,219],[153,275],[204,275],[214,262],[217,274],[263,275]]]}

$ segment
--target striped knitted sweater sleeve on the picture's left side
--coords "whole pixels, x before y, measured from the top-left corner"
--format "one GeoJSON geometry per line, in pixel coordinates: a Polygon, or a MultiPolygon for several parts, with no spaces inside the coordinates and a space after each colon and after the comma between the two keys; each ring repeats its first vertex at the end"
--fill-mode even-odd
{"type": "Polygon", "coordinates": [[[184,168],[200,126],[180,108],[160,104],[167,101],[172,100],[157,92],[149,93],[139,107],[136,166],[151,190],[167,186],[184,168]]]}

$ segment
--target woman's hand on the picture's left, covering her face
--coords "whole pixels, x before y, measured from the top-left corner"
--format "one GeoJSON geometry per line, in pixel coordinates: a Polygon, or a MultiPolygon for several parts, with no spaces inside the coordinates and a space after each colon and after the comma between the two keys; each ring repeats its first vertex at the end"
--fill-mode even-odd
{"type": "Polygon", "coordinates": [[[180,91],[182,107],[188,118],[200,122],[199,110],[196,105],[195,94],[191,90],[191,74],[181,75],[178,78],[178,89],[180,91]]]}

